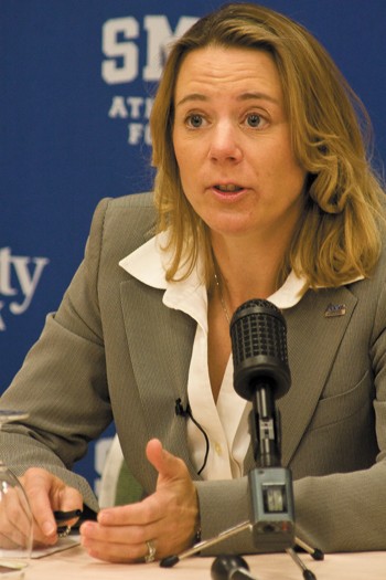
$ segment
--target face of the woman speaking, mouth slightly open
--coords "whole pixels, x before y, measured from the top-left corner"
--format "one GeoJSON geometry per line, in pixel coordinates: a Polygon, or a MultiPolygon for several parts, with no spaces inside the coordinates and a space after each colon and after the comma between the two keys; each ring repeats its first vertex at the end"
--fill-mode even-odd
{"type": "Polygon", "coordinates": [[[213,234],[290,235],[305,171],[293,155],[274,59],[259,50],[195,50],[181,65],[174,103],[182,187],[213,234]]]}

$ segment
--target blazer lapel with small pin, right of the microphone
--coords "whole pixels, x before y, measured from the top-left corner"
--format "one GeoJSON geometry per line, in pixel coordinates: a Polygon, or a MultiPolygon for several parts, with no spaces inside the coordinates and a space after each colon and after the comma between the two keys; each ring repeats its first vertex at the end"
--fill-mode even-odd
{"type": "Polygon", "coordinates": [[[312,419],[356,302],[345,286],[309,291],[285,312],[292,380],[278,401],[283,465],[289,465],[312,419]]]}

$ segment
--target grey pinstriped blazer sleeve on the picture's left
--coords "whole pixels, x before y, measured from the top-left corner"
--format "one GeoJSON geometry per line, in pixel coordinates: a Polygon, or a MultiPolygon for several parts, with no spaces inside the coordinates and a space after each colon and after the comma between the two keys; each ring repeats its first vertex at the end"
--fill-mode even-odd
{"type": "Polygon", "coordinates": [[[40,339],[1,397],[2,408],[23,409],[30,418],[24,425],[6,428],[0,451],[17,474],[31,465],[47,468],[79,488],[95,510],[98,506],[88,483],[71,468],[111,421],[96,296],[99,215],[100,211],[86,257],[58,310],[46,317],[40,339]]]}

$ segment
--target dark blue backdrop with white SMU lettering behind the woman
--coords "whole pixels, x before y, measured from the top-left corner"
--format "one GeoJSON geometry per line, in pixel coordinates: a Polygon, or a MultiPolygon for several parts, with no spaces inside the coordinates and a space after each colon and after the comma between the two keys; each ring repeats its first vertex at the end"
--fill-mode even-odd
{"type": "MultiPolygon", "coordinates": [[[[148,118],[165,46],[221,3],[0,0],[0,392],[82,260],[98,200],[151,187],[148,118]]],[[[368,108],[380,168],[386,2],[260,3],[330,51],[368,108]]],[[[77,466],[93,485],[105,447],[77,466]]]]}

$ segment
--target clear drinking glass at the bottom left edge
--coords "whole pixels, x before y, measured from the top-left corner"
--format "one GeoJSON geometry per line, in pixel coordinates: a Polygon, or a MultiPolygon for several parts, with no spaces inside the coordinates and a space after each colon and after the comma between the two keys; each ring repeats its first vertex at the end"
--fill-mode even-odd
{"type": "MultiPolygon", "coordinates": [[[[0,430],[26,419],[21,411],[0,410],[0,430]]],[[[0,580],[24,578],[32,551],[33,518],[25,492],[0,458],[0,580]]]]}

